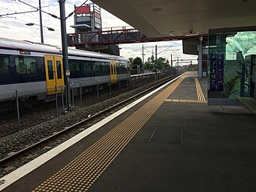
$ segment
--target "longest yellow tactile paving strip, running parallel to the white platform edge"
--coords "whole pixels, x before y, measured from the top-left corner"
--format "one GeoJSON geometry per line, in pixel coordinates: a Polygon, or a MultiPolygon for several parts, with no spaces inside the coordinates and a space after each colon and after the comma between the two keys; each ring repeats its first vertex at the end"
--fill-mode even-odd
{"type": "Polygon", "coordinates": [[[164,89],[112,131],[96,141],[67,166],[40,184],[35,191],[87,191],[116,156],[188,75],[164,89]]]}

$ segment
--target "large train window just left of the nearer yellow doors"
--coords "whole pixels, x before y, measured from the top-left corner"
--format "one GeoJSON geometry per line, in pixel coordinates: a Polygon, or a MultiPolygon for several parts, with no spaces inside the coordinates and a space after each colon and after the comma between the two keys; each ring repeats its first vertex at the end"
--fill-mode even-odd
{"type": "Polygon", "coordinates": [[[17,74],[37,74],[37,61],[35,58],[15,58],[15,65],[17,74]]]}

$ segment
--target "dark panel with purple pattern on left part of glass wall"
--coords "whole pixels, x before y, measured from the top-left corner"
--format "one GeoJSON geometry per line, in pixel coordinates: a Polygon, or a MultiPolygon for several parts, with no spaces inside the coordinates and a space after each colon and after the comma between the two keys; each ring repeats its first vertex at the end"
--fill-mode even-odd
{"type": "Polygon", "coordinates": [[[223,91],[224,54],[210,54],[210,91],[223,91]]]}

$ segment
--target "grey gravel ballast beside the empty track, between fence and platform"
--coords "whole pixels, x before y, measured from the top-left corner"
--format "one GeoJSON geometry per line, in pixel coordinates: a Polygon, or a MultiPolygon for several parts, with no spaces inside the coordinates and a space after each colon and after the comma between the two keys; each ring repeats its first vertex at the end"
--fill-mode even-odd
{"type": "MultiPolygon", "coordinates": [[[[86,119],[89,115],[99,113],[100,111],[105,110],[110,106],[121,102],[124,99],[128,99],[135,94],[141,93],[143,90],[146,90],[149,87],[156,85],[156,83],[157,82],[150,83],[146,86],[142,86],[128,93],[123,93],[119,96],[103,100],[102,102],[93,104],[91,106],[75,108],[74,110],[55,117],[51,120],[46,120],[44,121],[44,123],[37,124],[33,127],[28,127],[14,134],[9,134],[5,137],[2,137],[0,138],[0,159],[3,159],[8,155],[12,155],[12,153],[18,152],[30,145],[33,145],[34,143],[37,143],[38,141],[65,129],[65,127],[69,127],[75,123],[78,123],[79,121],[86,119]]],[[[31,120],[33,120],[33,117],[31,117],[31,120]]],[[[88,124],[88,127],[91,125],[92,124],[88,124]]],[[[76,131],[75,134],[78,134],[80,131],[76,131]]],[[[61,142],[67,140],[68,138],[71,138],[72,136],[74,135],[69,135],[68,137],[64,138],[64,140],[59,141],[58,145],[61,144],[61,142]]],[[[5,165],[5,167],[0,168],[0,177],[12,172],[14,169],[36,158],[38,155],[47,152],[52,147],[54,146],[46,146],[45,150],[40,150],[36,152],[37,154],[35,155],[29,155],[29,157],[19,159],[18,162],[12,162],[9,165],[5,165]]]]}

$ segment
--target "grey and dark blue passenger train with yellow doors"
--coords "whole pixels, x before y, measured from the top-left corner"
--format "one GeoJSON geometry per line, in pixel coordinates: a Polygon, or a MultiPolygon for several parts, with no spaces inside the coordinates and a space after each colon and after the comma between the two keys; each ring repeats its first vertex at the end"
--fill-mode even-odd
{"type": "MultiPolygon", "coordinates": [[[[68,48],[69,83],[86,88],[130,79],[127,58],[68,48]]],[[[0,38],[0,99],[23,93],[47,100],[65,85],[60,47],[0,38]]]]}

